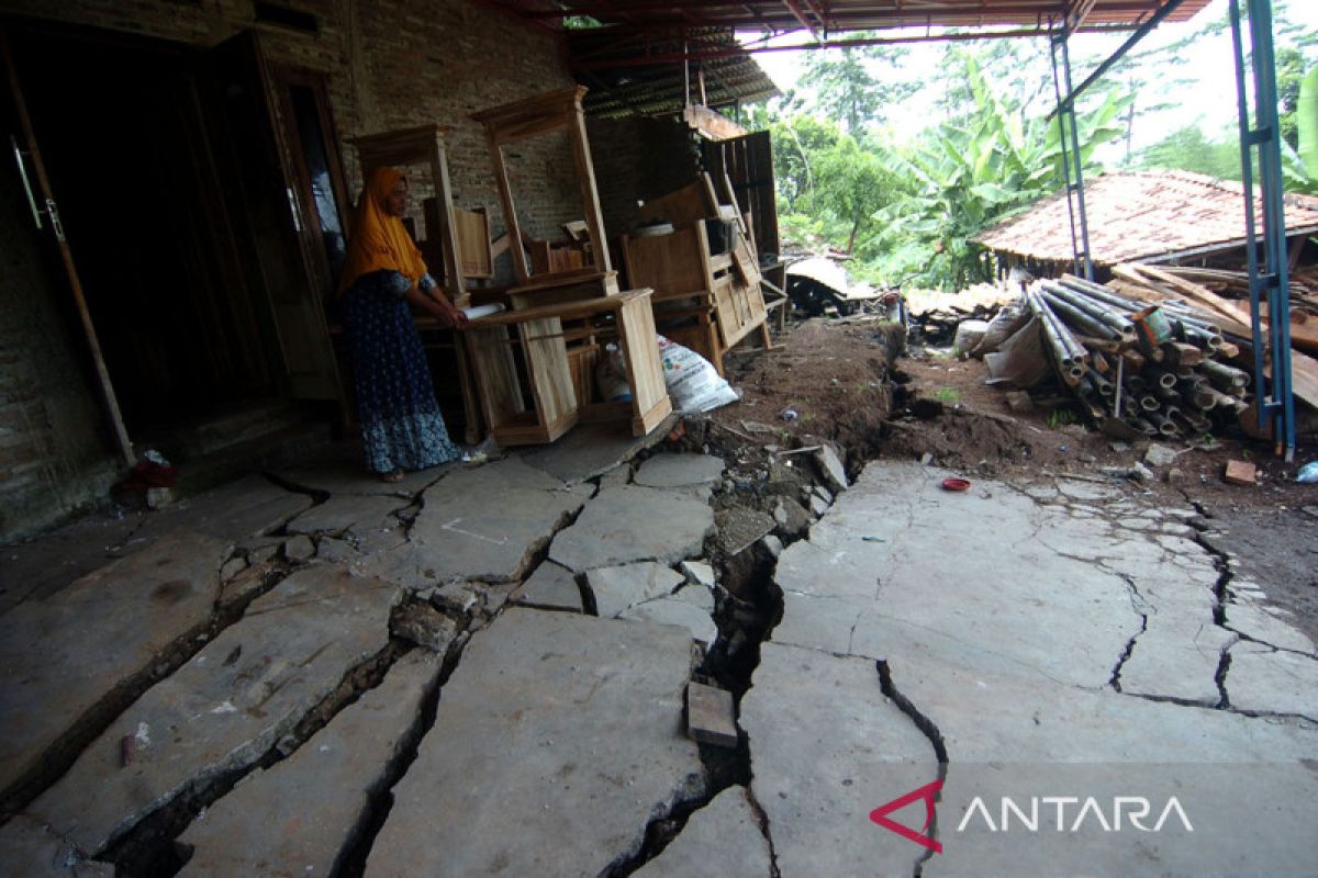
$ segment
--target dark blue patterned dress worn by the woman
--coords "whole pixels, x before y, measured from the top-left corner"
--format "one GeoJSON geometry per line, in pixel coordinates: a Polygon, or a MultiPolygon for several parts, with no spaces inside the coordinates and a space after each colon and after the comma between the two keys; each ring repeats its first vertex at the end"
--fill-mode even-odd
{"type": "MultiPolygon", "coordinates": [[[[434,280],[427,275],[423,286],[434,280]]],[[[340,300],[352,357],[357,420],[374,473],[424,470],[456,459],[435,401],[420,336],[403,294],[411,282],[397,271],[357,278],[340,300]]]]}

